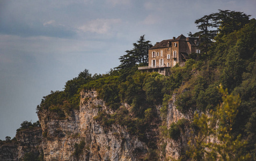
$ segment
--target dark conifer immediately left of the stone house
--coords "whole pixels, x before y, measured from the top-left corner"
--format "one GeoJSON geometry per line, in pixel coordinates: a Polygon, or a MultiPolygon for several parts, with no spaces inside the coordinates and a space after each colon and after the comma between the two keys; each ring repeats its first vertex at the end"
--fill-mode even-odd
{"type": "Polygon", "coordinates": [[[133,43],[134,48],[126,50],[125,55],[120,56],[121,64],[115,69],[129,69],[136,64],[147,64],[149,61],[148,50],[152,47],[150,41],[145,41],[145,35],[142,35],[137,43],[133,43]]]}

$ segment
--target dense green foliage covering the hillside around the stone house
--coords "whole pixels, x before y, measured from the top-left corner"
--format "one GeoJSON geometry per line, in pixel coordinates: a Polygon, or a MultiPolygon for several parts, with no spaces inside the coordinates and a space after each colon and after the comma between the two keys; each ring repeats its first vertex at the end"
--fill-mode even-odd
{"type": "MultiPolygon", "coordinates": [[[[229,156],[234,150],[229,143],[235,142],[240,145],[240,147],[237,145],[237,148],[244,148],[243,156],[248,154],[247,156],[250,155],[252,160],[256,160],[256,20],[249,17],[242,12],[220,10],[219,13],[197,20],[196,24],[206,25],[198,26],[200,30],[202,29],[198,35],[211,33],[213,35],[205,38],[214,41],[207,43],[201,54],[191,56],[185,67],[177,65],[171,68],[167,76],[159,75],[157,72],[137,71],[139,63],[145,64],[147,60],[144,47],[150,47],[150,41],[145,41],[142,36],[134,44],[134,49],[127,50],[127,54],[120,58],[121,64],[116,70],[94,76],[89,74],[88,70],[84,70],[78,77],[66,83],[64,91],[51,92],[44,97],[37,110],[39,113],[47,110],[56,113],[59,119],[65,119],[70,112],[79,109],[79,92],[97,90],[98,98],[106,102],[113,114],[108,114],[101,107],[97,107],[99,113],[94,120],[104,125],[106,129],[113,124],[126,126],[130,134],[148,143],[151,148],[148,156],[150,160],[159,155],[159,151],[156,150],[158,137],[179,140],[185,127],[194,129],[198,137],[208,135],[208,133],[204,134],[203,128],[198,125],[198,122],[203,121],[200,115],[195,116],[194,122],[180,120],[173,123],[169,129],[166,127],[167,106],[169,101],[172,101],[172,96],[175,96],[175,105],[182,113],[189,110],[213,111],[213,115],[218,112],[223,118],[229,118],[228,113],[223,114],[218,106],[222,101],[224,103],[221,105],[228,101],[228,95],[223,96],[223,92],[218,92],[216,88],[222,84],[223,89],[228,89],[226,93],[231,93],[234,97],[240,96],[239,104],[237,102],[236,108],[230,114],[232,123],[226,125],[229,126],[228,133],[226,134],[222,128],[218,129],[221,130],[218,135],[229,135],[229,138],[223,137],[221,140],[231,148],[226,155],[229,156]],[[207,25],[216,27],[216,31],[209,31],[208,27],[211,26],[207,25]],[[144,44],[144,47],[141,47],[141,44],[144,44]],[[144,56],[136,56],[136,53],[144,53],[144,56]],[[124,103],[130,108],[124,106],[124,103]],[[156,108],[158,105],[161,105],[160,114],[156,108]],[[163,135],[157,136],[154,133],[157,130],[162,130],[160,133],[163,135]],[[246,141],[248,144],[245,144],[246,141]]],[[[204,117],[206,120],[202,123],[211,122],[206,116],[204,117]]],[[[219,119],[222,121],[222,118],[219,119]]],[[[213,122],[216,123],[216,120],[213,122]]],[[[194,143],[196,145],[196,141],[194,143]]],[[[166,143],[162,147],[166,147],[166,143]]],[[[194,150],[202,150],[202,147],[197,148],[199,149],[194,150]]],[[[79,153],[78,147],[77,150],[79,153]]],[[[240,158],[242,156],[240,154],[240,151],[236,151],[232,157],[240,158]]],[[[189,153],[184,158],[189,156],[195,160],[202,159],[202,155],[198,157],[189,153]]]]}

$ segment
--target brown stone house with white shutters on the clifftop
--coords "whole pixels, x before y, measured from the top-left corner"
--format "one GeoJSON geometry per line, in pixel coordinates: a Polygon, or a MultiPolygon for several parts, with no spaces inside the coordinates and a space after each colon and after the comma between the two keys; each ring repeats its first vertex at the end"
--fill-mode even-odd
{"type": "Polygon", "coordinates": [[[149,48],[149,66],[138,67],[138,70],[158,71],[166,75],[166,69],[176,64],[185,65],[189,54],[200,53],[199,44],[199,38],[186,38],[182,34],[178,38],[157,42],[149,48]]]}

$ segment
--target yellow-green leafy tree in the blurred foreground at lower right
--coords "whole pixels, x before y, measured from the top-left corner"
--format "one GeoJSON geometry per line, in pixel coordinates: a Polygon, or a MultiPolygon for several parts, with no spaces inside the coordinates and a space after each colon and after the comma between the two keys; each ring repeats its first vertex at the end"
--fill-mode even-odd
{"type": "Polygon", "coordinates": [[[241,135],[232,134],[241,100],[239,96],[228,94],[222,86],[219,91],[223,103],[216,111],[210,111],[210,116],[195,115],[194,125],[199,130],[188,142],[187,155],[192,160],[248,160],[250,156],[244,153],[247,142],[242,140],[241,135]],[[217,141],[210,142],[210,138],[217,138],[217,141]]]}

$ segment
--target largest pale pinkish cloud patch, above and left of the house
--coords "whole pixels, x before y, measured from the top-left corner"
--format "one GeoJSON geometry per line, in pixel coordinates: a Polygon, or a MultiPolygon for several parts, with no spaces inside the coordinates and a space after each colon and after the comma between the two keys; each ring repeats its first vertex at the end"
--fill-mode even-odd
{"type": "Polygon", "coordinates": [[[120,24],[121,19],[94,19],[89,23],[78,27],[79,31],[106,34],[110,32],[114,25],[120,24]]]}

